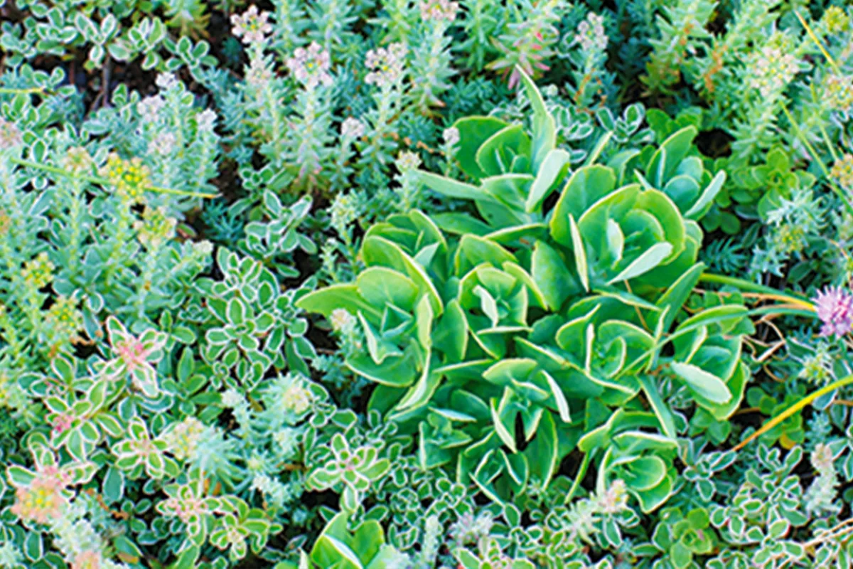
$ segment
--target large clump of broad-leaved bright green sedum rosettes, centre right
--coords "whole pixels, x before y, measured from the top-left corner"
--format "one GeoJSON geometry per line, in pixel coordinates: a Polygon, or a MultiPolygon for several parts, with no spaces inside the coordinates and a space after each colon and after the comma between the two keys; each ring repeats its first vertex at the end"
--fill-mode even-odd
{"type": "Polygon", "coordinates": [[[697,220],[724,174],[686,156],[689,127],[572,170],[518,73],[529,126],[461,119],[467,181],[420,172],[471,206],[372,225],[354,282],[297,305],[361,329],[366,349],[345,364],[377,384],[368,407],[416,436],[422,468],[501,503],[542,491],[577,449],[601,489],[624,480],[651,512],[675,489],[685,422],[670,399],[722,421],[749,379],[746,308],[682,310],[704,270],[697,220]]]}

